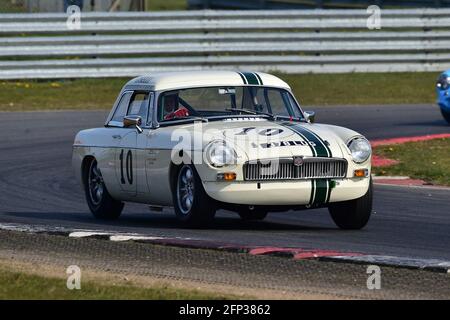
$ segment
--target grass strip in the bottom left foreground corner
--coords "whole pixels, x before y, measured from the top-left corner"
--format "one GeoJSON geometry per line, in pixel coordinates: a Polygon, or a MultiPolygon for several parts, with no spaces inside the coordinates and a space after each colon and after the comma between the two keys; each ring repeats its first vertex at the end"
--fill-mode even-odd
{"type": "Polygon", "coordinates": [[[0,299],[236,299],[236,297],[205,293],[197,290],[169,287],[143,288],[133,285],[106,285],[95,281],[82,281],[81,290],[69,290],[65,279],[43,277],[25,272],[11,272],[2,268],[0,272],[0,299]]]}

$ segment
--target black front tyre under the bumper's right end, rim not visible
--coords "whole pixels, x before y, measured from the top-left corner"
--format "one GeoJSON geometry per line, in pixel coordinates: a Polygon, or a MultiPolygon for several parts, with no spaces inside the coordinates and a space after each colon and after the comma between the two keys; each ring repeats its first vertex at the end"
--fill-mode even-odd
{"type": "Polygon", "coordinates": [[[334,223],[341,229],[359,230],[366,226],[372,214],[373,184],[370,179],[369,190],[361,198],[331,203],[328,210],[334,223]]]}

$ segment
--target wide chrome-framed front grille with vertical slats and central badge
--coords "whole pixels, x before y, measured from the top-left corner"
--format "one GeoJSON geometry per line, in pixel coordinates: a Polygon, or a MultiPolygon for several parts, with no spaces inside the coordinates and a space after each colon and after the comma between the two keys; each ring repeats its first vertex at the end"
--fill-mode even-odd
{"type": "Polygon", "coordinates": [[[345,159],[305,158],[302,165],[294,165],[292,159],[244,164],[244,179],[249,181],[345,178],[346,174],[345,159]]]}

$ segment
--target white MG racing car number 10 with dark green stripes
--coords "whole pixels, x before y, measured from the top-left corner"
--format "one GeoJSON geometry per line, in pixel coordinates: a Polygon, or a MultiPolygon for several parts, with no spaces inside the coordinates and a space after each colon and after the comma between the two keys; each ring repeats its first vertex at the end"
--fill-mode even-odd
{"type": "Polygon", "coordinates": [[[135,78],[102,128],[79,132],[73,166],[95,217],[124,202],[174,207],[189,225],[216,210],[243,219],[328,207],[340,228],[364,227],[372,211],[370,143],[315,124],[279,78],[234,71],[135,78]]]}

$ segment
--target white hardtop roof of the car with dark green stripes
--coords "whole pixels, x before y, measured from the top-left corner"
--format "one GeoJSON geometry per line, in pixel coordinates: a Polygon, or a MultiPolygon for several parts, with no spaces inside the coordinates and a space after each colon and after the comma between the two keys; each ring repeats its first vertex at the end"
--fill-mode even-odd
{"type": "Polygon", "coordinates": [[[262,72],[244,71],[180,71],[143,75],[130,80],[125,89],[145,87],[154,91],[189,87],[262,85],[290,89],[278,77],[262,72]]]}

